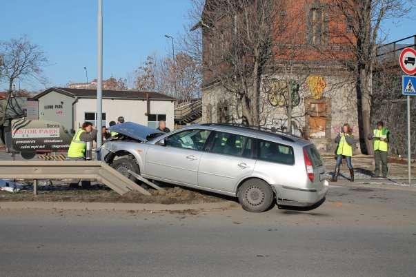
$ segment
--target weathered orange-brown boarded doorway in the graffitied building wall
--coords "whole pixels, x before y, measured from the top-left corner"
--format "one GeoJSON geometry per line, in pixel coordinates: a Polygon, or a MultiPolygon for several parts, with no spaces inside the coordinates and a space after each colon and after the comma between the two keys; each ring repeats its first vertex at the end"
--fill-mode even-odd
{"type": "Polygon", "coordinates": [[[326,138],[326,103],[310,103],[309,137],[310,139],[326,138]]]}

